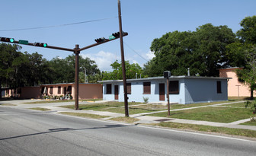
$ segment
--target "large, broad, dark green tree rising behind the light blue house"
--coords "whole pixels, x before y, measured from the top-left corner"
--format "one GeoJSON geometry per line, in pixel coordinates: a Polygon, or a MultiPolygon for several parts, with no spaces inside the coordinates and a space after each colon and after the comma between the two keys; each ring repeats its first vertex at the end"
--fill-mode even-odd
{"type": "Polygon", "coordinates": [[[218,68],[229,66],[226,45],[235,42],[235,33],[227,26],[205,24],[194,32],[170,32],[152,42],[155,58],[146,63],[149,76],[159,76],[165,70],[171,75],[190,74],[218,76],[218,68]]]}

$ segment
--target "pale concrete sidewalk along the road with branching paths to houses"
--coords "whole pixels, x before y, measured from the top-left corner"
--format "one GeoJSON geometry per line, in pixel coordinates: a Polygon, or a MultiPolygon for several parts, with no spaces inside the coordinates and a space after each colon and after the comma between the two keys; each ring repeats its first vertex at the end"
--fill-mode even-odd
{"type": "MultiPolygon", "coordinates": [[[[103,119],[110,119],[114,117],[120,117],[124,116],[123,113],[112,113],[112,112],[106,112],[106,111],[94,111],[94,110],[71,110],[59,106],[65,106],[65,105],[71,105],[74,104],[74,102],[60,102],[60,103],[40,103],[40,104],[24,104],[26,102],[33,102],[38,100],[11,100],[11,101],[0,101],[1,104],[4,103],[11,103],[15,106],[2,106],[2,107],[16,107],[21,109],[28,109],[31,107],[43,107],[48,108],[52,113],[59,113],[59,112],[73,112],[73,113],[90,113],[95,115],[101,115],[101,116],[110,116],[103,119]]],[[[102,103],[106,101],[96,101],[95,103],[102,103]]],[[[88,102],[80,102],[82,103],[88,103],[88,102]]],[[[182,108],[182,109],[176,109],[176,110],[170,110],[170,111],[178,111],[178,110],[190,110],[190,109],[196,109],[196,108],[202,108],[202,107],[216,107],[216,106],[222,106],[230,103],[241,103],[241,101],[236,102],[227,102],[227,103],[218,103],[213,105],[206,105],[206,106],[200,106],[200,107],[188,107],[188,108],[182,108]]],[[[173,123],[189,123],[189,124],[195,124],[195,125],[205,125],[205,126],[217,126],[217,127],[228,127],[228,128],[235,128],[235,129],[251,129],[256,131],[256,126],[245,126],[245,125],[239,125],[240,123],[248,122],[250,119],[242,119],[239,121],[235,121],[232,123],[215,123],[215,122],[208,122],[208,121],[198,121],[198,120],[190,120],[190,119],[176,119],[176,118],[167,118],[167,117],[158,117],[158,116],[147,116],[152,113],[161,113],[161,112],[167,112],[167,110],[161,110],[157,112],[151,112],[151,113],[138,113],[130,115],[130,117],[139,119],[139,121],[135,123],[139,124],[145,124],[145,123],[161,123],[161,122],[173,122],[173,123]]]]}

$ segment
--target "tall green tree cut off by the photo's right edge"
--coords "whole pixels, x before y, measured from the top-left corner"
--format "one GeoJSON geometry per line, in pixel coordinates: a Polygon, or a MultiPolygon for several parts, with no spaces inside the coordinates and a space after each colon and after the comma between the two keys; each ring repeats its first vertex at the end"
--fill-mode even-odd
{"type": "Polygon", "coordinates": [[[238,80],[248,85],[251,100],[256,89],[256,16],[244,18],[238,30],[238,40],[228,46],[229,58],[234,66],[243,67],[237,70],[238,80]]]}

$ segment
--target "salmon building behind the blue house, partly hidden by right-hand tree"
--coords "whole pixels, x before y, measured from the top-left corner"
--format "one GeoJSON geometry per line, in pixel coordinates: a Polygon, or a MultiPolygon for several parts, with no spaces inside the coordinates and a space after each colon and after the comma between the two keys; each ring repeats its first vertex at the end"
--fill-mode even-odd
{"type": "MultiPolygon", "coordinates": [[[[247,85],[238,81],[235,70],[242,69],[238,67],[221,68],[219,69],[219,77],[232,78],[228,81],[228,96],[229,97],[250,97],[250,88],[247,85]]],[[[256,92],[254,91],[254,94],[256,92]]]]}

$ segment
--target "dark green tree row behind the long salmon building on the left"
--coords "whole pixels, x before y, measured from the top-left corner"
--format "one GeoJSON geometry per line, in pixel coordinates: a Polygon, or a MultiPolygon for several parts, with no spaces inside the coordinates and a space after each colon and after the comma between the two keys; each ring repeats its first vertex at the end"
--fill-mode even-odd
{"type": "MultiPolygon", "coordinates": [[[[2,87],[18,88],[37,84],[75,81],[75,56],[59,57],[47,61],[39,53],[21,53],[21,46],[0,44],[0,91],[2,87]]],[[[85,82],[85,68],[89,82],[101,80],[96,62],[80,56],[80,82],[85,82]]],[[[2,95],[2,94],[1,94],[2,95]]]]}

